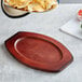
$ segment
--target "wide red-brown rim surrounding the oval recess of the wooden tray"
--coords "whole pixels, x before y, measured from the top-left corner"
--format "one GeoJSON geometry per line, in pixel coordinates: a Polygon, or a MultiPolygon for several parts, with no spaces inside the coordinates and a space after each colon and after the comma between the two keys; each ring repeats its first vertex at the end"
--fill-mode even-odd
{"type": "MultiPolygon", "coordinates": [[[[71,55],[71,53],[69,52],[69,50],[67,50],[67,47],[65,46],[65,45],[63,45],[60,42],[58,42],[57,40],[55,40],[55,39],[53,39],[53,38],[51,38],[51,37],[47,37],[47,36],[44,36],[44,35],[40,35],[40,33],[35,33],[35,32],[26,32],[26,31],[19,31],[19,32],[17,32],[17,33],[15,33],[14,36],[12,36],[11,38],[9,38],[5,42],[4,42],[4,44],[5,44],[5,47],[8,49],[8,51],[17,59],[17,60],[19,60],[20,63],[23,63],[23,64],[25,64],[25,65],[28,65],[28,66],[30,66],[30,67],[32,67],[32,68],[36,68],[36,69],[40,69],[40,70],[45,70],[45,71],[60,71],[60,70],[63,70],[65,67],[67,67],[72,60],[73,60],[73,57],[72,57],[72,55],[71,55]],[[22,56],[19,55],[19,54],[15,54],[15,53],[12,53],[11,51],[10,51],[10,45],[8,45],[9,44],[9,41],[11,41],[11,39],[13,39],[13,38],[15,38],[15,40],[13,41],[13,43],[17,40],[17,39],[19,39],[19,38],[22,38],[22,37],[25,37],[25,36],[35,36],[35,37],[41,37],[42,39],[47,39],[47,41],[51,41],[51,42],[53,42],[53,44],[57,44],[56,46],[58,47],[58,46],[60,46],[60,47],[63,47],[63,49],[65,49],[64,51],[63,51],[63,49],[60,49],[60,47],[58,47],[58,49],[60,49],[60,51],[63,51],[63,53],[66,53],[67,52],[67,55],[68,55],[68,57],[70,58],[67,58],[66,57],[66,55],[63,55],[63,59],[62,60],[59,60],[59,63],[57,63],[57,64],[52,64],[52,65],[54,65],[54,67],[52,66],[52,65],[46,65],[44,68],[42,68],[42,66],[43,66],[43,64],[42,65],[40,65],[39,64],[39,66],[37,66],[37,67],[35,67],[31,63],[31,65],[29,64],[29,63],[27,63],[24,58],[22,58],[22,56]],[[18,38],[16,38],[16,36],[18,37],[18,38]],[[56,42],[56,43],[55,43],[56,42]],[[68,60],[67,60],[67,59],[68,60]],[[24,62],[23,62],[24,60],[24,62]],[[47,68],[49,67],[49,68],[47,68]],[[53,68],[53,69],[51,69],[51,68],[53,68]]],[[[16,51],[15,51],[16,52],[16,51]]]]}

